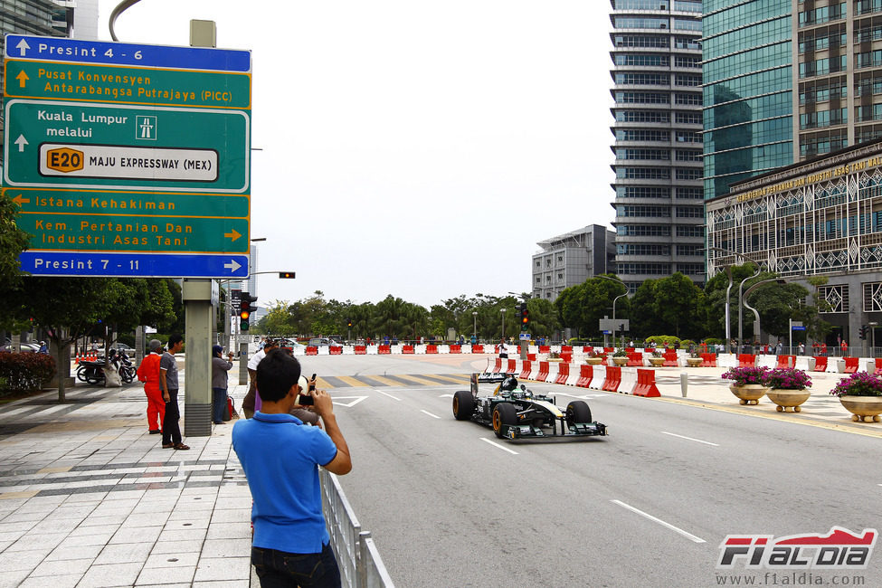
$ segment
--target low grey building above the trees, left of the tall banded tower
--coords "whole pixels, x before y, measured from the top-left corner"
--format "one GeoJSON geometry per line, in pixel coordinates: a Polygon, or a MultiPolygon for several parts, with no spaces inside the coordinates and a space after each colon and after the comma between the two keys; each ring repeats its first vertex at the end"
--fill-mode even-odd
{"type": "Polygon", "coordinates": [[[552,302],[565,288],[613,271],[615,233],[593,224],[536,243],[533,298],[552,302]]]}

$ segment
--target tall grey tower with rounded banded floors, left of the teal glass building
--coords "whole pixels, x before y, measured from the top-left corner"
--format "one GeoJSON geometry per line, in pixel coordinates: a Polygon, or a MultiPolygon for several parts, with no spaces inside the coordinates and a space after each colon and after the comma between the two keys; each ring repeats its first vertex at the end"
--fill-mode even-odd
{"type": "Polygon", "coordinates": [[[616,274],[705,281],[700,0],[611,0],[616,274]]]}

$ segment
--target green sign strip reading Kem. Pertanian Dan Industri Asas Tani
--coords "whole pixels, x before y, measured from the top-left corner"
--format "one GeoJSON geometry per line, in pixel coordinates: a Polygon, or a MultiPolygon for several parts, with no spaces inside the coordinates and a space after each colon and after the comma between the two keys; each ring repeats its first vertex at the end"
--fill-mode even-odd
{"type": "Polygon", "coordinates": [[[19,213],[31,248],[48,251],[247,253],[248,219],[19,213]]]}

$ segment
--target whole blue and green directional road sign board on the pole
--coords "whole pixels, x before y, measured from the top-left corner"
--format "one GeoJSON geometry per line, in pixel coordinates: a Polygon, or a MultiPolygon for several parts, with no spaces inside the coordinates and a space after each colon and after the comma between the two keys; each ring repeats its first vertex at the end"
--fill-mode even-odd
{"type": "Polygon", "coordinates": [[[248,276],[251,53],[6,35],[3,196],[34,275],[248,276]]]}

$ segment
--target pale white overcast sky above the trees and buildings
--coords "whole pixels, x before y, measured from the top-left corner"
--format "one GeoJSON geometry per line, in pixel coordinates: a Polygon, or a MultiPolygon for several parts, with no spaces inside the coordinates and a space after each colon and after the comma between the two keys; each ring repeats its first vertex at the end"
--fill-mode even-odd
{"type": "MultiPolygon", "coordinates": [[[[119,0],[100,0],[100,39],[119,0]]],[[[536,242],[612,222],[610,3],[142,0],[121,42],[191,18],[252,52],[261,300],[430,307],[529,291],[536,242]]]]}

